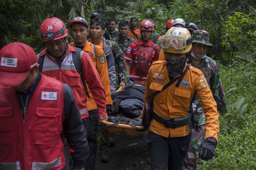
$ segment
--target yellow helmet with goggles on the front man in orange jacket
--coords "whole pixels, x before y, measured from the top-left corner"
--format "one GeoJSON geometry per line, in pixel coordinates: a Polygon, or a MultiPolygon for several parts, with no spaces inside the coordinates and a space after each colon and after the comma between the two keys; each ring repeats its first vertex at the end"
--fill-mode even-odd
{"type": "Polygon", "coordinates": [[[161,38],[162,49],[169,53],[187,53],[192,48],[192,38],[186,28],[172,27],[161,38]]]}

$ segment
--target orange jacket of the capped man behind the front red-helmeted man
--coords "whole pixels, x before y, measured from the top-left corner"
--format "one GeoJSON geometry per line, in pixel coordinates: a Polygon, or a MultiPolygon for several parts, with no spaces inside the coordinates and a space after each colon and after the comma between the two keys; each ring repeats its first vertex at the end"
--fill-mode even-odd
{"type": "MultiPolygon", "coordinates": [[[[76,47],[74,42],[70,43],[69,45],[72,47],[76,47]]],[[[87,41],[84,45],[83,51],[88,53],[90,58],[92,59],[93,64],[95,65],[95,67],[99,73],[99,77],[101,78],[101,82],[102,82],[103,88],[106,93],[107,105],[111,105],[112,99],[111,99],[111,95],[110,95],[110,80],[108,78],[107,60],[106,60],[105,54],[103,52],[103,49],[101,47],[99,47],[98,45],[96,45],[96,54],[97,54],[97,58],[96,58],[94,51],[93,51],[93,44],[87,41]],[[104,62],[103,62],[103,60],[101,61],[99,59],[101,57],[104,57],[104,62]]],[[[87,83],[86,83],[86,86],[87,86],[88,93],[90,96],[90,98],[87,99],[88,110],[90,111],[90,110],[97,109],[97,105],[92,96],[92,92],[88,88],[87,83]]]]}

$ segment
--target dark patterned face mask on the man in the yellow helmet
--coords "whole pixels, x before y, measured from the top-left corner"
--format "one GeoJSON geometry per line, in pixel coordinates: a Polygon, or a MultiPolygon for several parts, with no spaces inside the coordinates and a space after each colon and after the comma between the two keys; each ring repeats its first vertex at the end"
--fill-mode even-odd
{"type": "Polygon", "coordinates": [[[165,60],[167,61],[166,67],[170,77],[178,76],[183,72],[186,64],[186,56],[180,59],[173,60],[170,58],[166,58],[165,60]]]}

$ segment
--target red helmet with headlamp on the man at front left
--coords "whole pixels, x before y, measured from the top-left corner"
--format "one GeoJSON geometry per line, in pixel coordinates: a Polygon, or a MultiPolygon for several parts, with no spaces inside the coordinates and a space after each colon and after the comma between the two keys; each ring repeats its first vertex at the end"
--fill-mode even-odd
{"type": "Polygon", "coordinates": [[[68,35],[65,24],[56,17],[45,19],[40,26],[40,37],[42,41],[61,39],[68,35]]]}

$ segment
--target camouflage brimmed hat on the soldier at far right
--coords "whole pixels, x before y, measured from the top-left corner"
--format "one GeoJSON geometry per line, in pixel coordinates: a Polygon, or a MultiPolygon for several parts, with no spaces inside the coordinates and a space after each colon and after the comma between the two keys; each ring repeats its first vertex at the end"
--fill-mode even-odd
{"type": "Polygon", "coordinates": [[[195,30],[192,33],[192,43],[201,43],[209,46],[213,46],[209,42],[209,33],[205,30],[195,30]]]}

